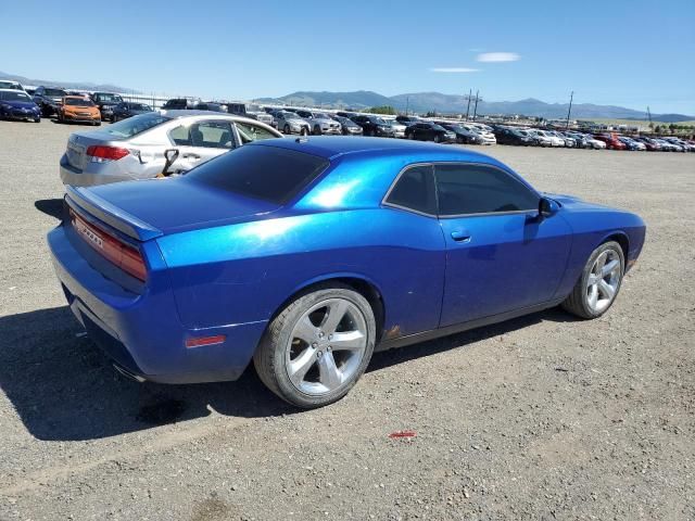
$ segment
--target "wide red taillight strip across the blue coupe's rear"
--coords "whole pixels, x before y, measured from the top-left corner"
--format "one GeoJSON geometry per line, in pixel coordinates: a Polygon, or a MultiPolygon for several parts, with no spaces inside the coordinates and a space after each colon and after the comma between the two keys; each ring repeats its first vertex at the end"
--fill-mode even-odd
{"type": "Polygon", "coordinates": [[[144,258],[137,247],[118,240],[98,226],[87,223],[73,209],[70,211],[70,217],[75,231],[106,260],[137,279],[142,281],[147,279],[144,258]]]}

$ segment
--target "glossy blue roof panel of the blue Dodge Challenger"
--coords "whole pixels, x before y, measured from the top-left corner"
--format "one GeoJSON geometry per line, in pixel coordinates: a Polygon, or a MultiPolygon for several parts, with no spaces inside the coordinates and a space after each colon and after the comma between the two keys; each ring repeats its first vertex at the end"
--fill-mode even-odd
{"type": "MultiPolygon", "coordinates": [[[[453,145],[427,143],[388,138],[345,138],[342,136],[312,136],[296,139],[270,139],[254,141],[250,145],[278,147],[296,150],[327,160],[333,160],[341,155],[404,155],[417,158],[417,161],[438,161],[450,157],[456,161],[484,162],[495,160],[485,154],[473,152],[453,145]]],[[[247,147],[249,147],[249,144],[247,147]]]]}

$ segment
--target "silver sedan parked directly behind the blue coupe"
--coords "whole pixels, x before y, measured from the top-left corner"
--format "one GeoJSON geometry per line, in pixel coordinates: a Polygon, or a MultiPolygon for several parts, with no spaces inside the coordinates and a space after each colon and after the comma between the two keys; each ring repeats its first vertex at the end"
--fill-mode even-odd
{"type": "Polygon", "coordinates": [[[255,119],[207,111],[140,114],[96,131],[74,132],[60,161],[64,185],[87,187],[162,173],[164,152],[178,151],[169,173],[188,171],[231,149],[260,139],[281,138],[255,119]]]}

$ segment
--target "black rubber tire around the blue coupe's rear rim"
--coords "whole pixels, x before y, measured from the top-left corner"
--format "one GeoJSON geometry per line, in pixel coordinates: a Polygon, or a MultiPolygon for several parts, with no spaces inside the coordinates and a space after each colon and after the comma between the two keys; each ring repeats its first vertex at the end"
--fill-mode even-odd
{"type": "Polygon", "coordinates": [[[349,285],[332,282],[313,287],[296,296],[269,323],[256,352],[253,364],[261,381],[280,398],[296,407],[311,409],[330,405],[350,392],[369,365],[376,340],[376,321],[367,300],[349,285]],[[367,327],[367,345],[357,370],[352,378],[339,387],[323,395],[309,395],[301,392],[291,382],[286,369],[286,346],[290,342],[292,330],[305,312],[328,298],[343,298],[357,306],[367,327]]]}

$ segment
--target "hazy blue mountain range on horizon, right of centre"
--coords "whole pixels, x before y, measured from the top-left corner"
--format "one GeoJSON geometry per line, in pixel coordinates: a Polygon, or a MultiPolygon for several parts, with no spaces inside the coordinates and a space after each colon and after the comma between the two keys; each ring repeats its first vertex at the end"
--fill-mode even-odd
{"type": "MultiPolygon", "coordinates": [[[[293,104],[304,106],[321,106],[325,109],[368,109],[371,106],[391,105],[396,110],[409,109],[425,113],[435,111],[444,114],[465,114],[468,98],[459,94],[441,92],[412,92],[387,97],[369,90],[355,92],[313,92],[299,91],[280,98],[262,98],[261,103],[293,104]]],[[[470,113],[473,112],[470,104],[470,113]]],[[[479,101],[478,114],[522,114],[526,116],[563,118],[567,117],[568,103],[546,103],[534,98],[520,101],[479,101]]],[[[615,105],[595,105],[592,103],[572,104],[572,117],[582,119],[646,119],[645,112],[615,105]]],[[[652,119],[664,123],[678,123],[695,119],[684,114],[653,114],[652,119]]]]}

